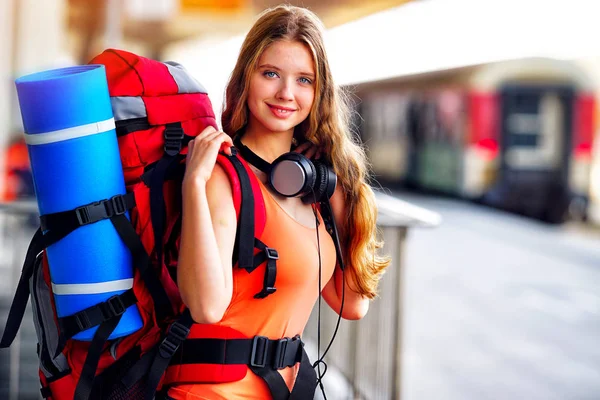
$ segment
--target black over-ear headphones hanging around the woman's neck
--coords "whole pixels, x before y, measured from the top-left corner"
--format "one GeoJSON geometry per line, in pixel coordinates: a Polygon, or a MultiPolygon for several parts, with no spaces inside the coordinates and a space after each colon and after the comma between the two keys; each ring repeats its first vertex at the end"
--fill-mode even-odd
{"type": "Polygon", "coordinates": [[[233,144],[246,161],[267,175],[268,185],[281,196],[300,197],[311,204],[329,200],[335,192],[337,176],[324,162],[291,151],[268,163],[244,145],[239,135],[233,144]]]}

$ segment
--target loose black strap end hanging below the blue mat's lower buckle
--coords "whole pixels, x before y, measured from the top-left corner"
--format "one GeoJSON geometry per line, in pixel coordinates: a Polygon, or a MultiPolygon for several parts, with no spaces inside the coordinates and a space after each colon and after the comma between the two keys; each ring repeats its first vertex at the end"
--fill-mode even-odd
{"type": "Polygon", "coordinates": [[[110,334],[115,330],[119,321],[123,317],[123,314],[111,318],[100,324],[98,330],[94,334],[94,338],[88,348],[88,354],[85,357],[85,362],[81,369],[81,376],[77,382],[75,388],[74,400],[88,400],[92,393],[92,387],[94,384],[94,377],[96,376],[96,370],[98,369],[98,362],[100,361],[100,355],[104,349],[104,344],[108,340],[110,334]]]}

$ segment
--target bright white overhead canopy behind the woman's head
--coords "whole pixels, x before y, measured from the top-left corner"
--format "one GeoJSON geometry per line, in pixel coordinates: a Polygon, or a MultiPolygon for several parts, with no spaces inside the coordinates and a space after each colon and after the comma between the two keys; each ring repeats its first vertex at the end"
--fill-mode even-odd
{"type": "MultiPolygon", "coordinates": [[[[529,57],[600,55],[591,0],[420,0],[332,29],[326,46],[340,85],[529,57]]],[[[207,87],[215,109],[243,36],[172,48],[207,87]]]]}

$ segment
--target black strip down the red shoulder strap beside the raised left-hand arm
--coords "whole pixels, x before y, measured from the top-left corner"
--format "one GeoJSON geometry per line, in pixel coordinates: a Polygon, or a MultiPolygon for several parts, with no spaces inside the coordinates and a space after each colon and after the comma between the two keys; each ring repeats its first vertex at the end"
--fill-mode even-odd
{"type": "Polygon", "coordinates": [[[254,193],[252,184],[242,162],[236,156],[226,157],[235,168],[242,191],[240,216],[233,248],[233,264],[235,265],[237,262],[240,268],[252,270],[254,269],[254,193]]]}

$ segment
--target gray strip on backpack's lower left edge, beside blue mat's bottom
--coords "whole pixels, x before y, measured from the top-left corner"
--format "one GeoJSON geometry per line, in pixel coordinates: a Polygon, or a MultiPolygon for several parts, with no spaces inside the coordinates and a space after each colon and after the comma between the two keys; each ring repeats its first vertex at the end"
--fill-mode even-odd
{"type": "MultiPolygon", "coordinates": [[[[59,332],[54,320],[54,310],[52,309],[52,294],[42,272],[42,263],[36,261],[35,270],[30,281],[31,307],[33,311],[33,323],[40,344],[40,354],[46,352],[54,364],[54,368],[60,373],[69,369],[67,358],[60,353],[56,358],[54,353],[59,345],[59,332]]],[[[52,373],[48,367],[42,363],[40,358],[40,370],[46,378],[52,378],[52,373]]]]}

